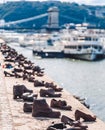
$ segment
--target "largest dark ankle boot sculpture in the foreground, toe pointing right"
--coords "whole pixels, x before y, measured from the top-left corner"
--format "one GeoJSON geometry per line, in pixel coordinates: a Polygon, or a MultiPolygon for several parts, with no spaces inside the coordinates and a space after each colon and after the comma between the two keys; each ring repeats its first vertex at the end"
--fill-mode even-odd
{"type": "Polygon", "coordinates": [[[32,108],[33,117],[59,118],[60,115],[59,111],[52,111],[45,99],[34,100],[32,108]]]}

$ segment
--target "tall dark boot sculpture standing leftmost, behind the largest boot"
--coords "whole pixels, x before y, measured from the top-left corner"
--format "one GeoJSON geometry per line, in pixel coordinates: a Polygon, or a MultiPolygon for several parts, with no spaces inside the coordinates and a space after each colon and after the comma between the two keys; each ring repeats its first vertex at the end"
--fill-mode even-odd
{"type": "Polygon", "coordinates": [[[32,93],[33,90],[29,90],[25,85],[14,85],[13,86],[13,99],[22,98],[23,93],[32,93]]]}

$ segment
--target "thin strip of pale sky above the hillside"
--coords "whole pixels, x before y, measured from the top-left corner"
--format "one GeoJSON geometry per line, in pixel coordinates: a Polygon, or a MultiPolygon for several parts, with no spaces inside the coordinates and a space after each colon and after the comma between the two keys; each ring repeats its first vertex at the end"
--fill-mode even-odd
{"type": "MultiPolygon", "coordinates": [[[[0,0],[1,3],[6,1],[23,1],[23,0],[0,0]]],[[[26,1],[47,1],[47,0],[26,0],[26,1]]],[[[79,4],[88,4],[88,5],[105,5],[105,0],[60,0],[60,1],[76,2],[79,4]]]]}

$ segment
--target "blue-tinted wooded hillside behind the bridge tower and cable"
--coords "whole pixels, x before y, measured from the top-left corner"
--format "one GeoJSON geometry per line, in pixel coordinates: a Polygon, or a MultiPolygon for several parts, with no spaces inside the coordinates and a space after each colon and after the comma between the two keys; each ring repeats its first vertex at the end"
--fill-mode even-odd
{"type": "MultiPolygon", "coordinates": [[[[59,8],[59,24],[88,22],[100,28],[105,28],[105,7],[79,5],[77,3],[54,2],[7,2],[0,4],[0,19],[6,22],[16,21],[44,14],[49,7],[59,8]]],[[[47,17],[12,25],[10,28],[39,29],[47,24],[47,17]]]]}

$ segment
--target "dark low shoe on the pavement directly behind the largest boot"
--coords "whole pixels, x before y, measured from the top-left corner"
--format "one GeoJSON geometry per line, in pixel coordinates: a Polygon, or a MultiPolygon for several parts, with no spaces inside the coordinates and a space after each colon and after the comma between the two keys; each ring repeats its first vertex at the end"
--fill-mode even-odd
{"type": "Polygon", "coordinates": [[[41,89],[40,90],[41,97],[61,97],[61,94],[55,94],[53,89],[41,89]]]}

